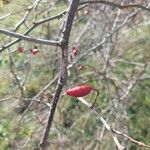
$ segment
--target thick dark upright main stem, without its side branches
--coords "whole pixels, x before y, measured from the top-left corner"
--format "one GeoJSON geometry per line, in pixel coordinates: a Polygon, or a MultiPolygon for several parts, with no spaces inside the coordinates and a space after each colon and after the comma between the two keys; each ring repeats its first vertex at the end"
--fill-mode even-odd
{"type": "Polygon", "coordinates": [[[62,88],[67,81],[67,66],[68,66],[68,42],[70,37],[70,32],[75,16],[75,12],[78,8],[79,0],[72,0],[69,6],[68,16],[66,18],[63,36],[61,39],[60,47],[62,49],[62,62],[60,68],[60,77],[58,79],[58,84],[56,87],[56,91],[54,97],[52,99],[51,108],[49,110],[48,122],[46,125],[46,129],[44,131],[44,136],[42,137],[41,143],[39,145],[39,149],[45,149],[47,146],[48,135],[51,129],[52,121],[55,114],[55,109],[59,100],[59,96],[61,94],[62,88]]]}

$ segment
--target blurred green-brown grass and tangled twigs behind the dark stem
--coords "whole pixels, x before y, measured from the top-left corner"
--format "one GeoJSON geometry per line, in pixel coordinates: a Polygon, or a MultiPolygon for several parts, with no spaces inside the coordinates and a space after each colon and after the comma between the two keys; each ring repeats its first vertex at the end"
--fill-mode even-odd
{"type": "MultiPolygon", "coordinates": [[[[49,134],[49,149],[117,149],[97,116],[63,94],[81,84],[100,92],[95,107],[111,127],[150,144],[150,10],[130,5],[148,8],[150,1],[84,2],[80,1],[72,26],[68,80],[49,134]],[[121,5],[129,7],[120,9],[121,5]]],[[[58,40],[68,5],[65,0],[1,0],[0,28],[58,40]],[[50,19],[53,16],[57,18],[50,19]]],[[[47,123],[61,49],[15,40],[0,33],[0,150],[34,150],[47,123]]],[[[85,100],[92,102],[94,97],[91,92],[85,100]]],[[[117,137],[127,150],[145,150],[117,137]]]]}

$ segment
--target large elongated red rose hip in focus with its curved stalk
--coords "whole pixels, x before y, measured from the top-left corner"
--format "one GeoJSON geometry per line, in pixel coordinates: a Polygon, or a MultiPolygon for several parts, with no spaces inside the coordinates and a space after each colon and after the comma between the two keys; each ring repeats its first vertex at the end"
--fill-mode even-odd
{"type": "Polygon", "coordinates": [[[92,90],[97,92],[95,100],[94,100],[94,102],[91,106],[91,107],[93,107],[95,102],[96,102],[96,99],[99,95],[99,92],[98,92],[97,89],[93,88],[90,85],[81,85],[81,86],[77,86],[77,87],[68,89],[68,90],[66,90],[66,94],[69,95],[69,96],[73,96],[73,97],[83,97],[83,96],[88,95],[92,90]]]}

